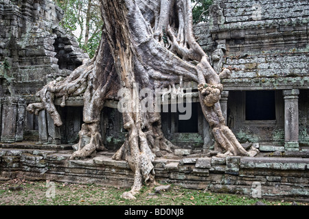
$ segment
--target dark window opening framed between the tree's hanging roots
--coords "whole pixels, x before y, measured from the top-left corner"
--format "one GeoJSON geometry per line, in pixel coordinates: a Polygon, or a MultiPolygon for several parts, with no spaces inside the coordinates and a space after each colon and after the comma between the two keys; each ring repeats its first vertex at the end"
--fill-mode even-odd
{"type": "MultiPolygon", "coordinates": [[[[192,113],[188,120],[180,120],[179,115],[185,115],[187,112],[177,112],[175,122],[179,133],[198,133],[198,103],[184,103],[185,109],[187,104],[192,104],[192,113]]],[[[187,109],[188,110],[188,109],[187,109]]]]}

